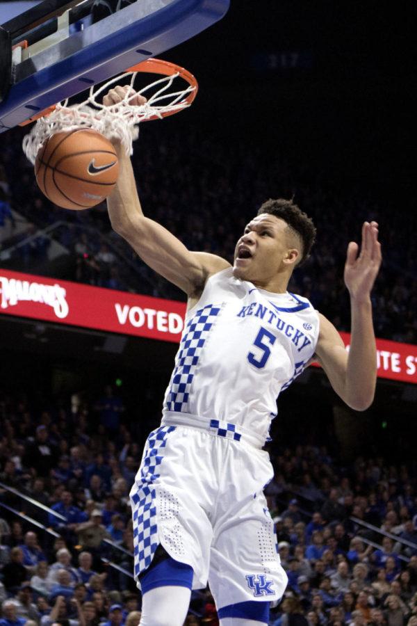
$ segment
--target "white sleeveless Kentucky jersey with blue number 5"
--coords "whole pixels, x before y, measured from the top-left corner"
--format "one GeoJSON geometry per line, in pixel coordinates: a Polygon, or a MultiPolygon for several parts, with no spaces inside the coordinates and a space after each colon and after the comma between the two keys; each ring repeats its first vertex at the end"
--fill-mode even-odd
{"type": "Polygon", "coordinates": [[[232,268],[212,275],[187,312],[164,415],[218,419],[267,439],[277,396],[303,371],[318,334],[306,298],[258,289],[232,268]]]}

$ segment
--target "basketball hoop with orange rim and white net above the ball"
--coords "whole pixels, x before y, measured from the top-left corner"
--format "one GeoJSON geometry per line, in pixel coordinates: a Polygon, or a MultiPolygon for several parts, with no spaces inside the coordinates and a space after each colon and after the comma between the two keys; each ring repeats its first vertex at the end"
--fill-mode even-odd
{"type": "MultiPolygon", "coordinates": [[[[178,82],[178,81],[177,81],[178,82]]],[[[159,58],[149,58],[138,65],[129,67],[126,72],[107,81],[105,85],[95,90],[90,88],[88,98],[80,104],[68,104],[68,99],[60,104],[42,111],[36,117],[31,132],[24,137],[23,150],[31,163],[35,163],[36,155],[46,139],[60,131],[72,131],[77,128],[92,128],[109,140],[120,140],[126,154],[132,154],[132,143],[138,138],[140,122],[161,120],[167,115],[174,115],[192,104],[197,95],[198,84],[193,74],[183,67],[162,61],[159,58]],[[161,74],[162,78],[150,83],[140,90],[134,90],[133,83],[140,72],[161,74]],[[104,106],[97,102],[97,97],[103,96],[108,88],[130,77],[129,87],[122,102],[104,106]],[[186,81],[187,86],[171,91],[172,83],[177,79],[186,81]],[[131,104],[136,95],[147,98],[141,105],[131,104]]],[[[33,122],[31,118],[28,122],[33,122]]]]}

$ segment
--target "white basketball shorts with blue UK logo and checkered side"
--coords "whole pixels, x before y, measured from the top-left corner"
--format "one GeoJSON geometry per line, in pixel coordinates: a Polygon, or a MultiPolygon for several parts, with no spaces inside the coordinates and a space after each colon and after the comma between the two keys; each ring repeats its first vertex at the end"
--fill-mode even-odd
{"type": "Polygon", "coordinates": [[[218,609],[283,595],[288,579],[263,495],[272,465],[242,430],[170,414],[149,435],[130,493],[139,588],[161,544],[193,568],[193,589],[208,581],[218,609]]]}

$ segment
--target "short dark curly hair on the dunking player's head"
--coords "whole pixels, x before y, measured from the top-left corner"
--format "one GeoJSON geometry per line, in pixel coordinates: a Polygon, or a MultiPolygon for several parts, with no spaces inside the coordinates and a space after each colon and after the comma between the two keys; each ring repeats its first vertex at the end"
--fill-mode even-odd
{"type": "Polygon", "coordinates": [[[313,220],[309,218],[304,211],[297,207],[297,204],[293,200],[285,200],[285,198],[277,198],[277,200],[266,200],[259,208],[258,215],[262,213],[268,213],[275,215],[286,222],[288,228],[292,230],[302,241],[302,257],[300,262],[297,263],[300,266],[309,258],[311,248],[314,241],[316,241],[316,227],[313,224],[313,220]]]}

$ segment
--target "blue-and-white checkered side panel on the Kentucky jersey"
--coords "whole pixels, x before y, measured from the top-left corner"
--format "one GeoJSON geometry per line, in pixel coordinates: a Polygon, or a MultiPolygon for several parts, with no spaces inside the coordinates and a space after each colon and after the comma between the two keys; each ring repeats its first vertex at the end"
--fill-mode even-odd
{"type": "Polygon", "coordinates": [[[215,317],[219,312],[220,307],[207,305],[204,309],[199,309],[188,320],[186,332],[184,332],[181,344],[179,344],[177,365],[172,373],[170,390],[167,393],[165,403],[167,410],[183,413],[189,412],[188,396],[194,378],[195,366],[198,363],[199,355],[202,353],[202,348],[213,326],[215,317]]]}

